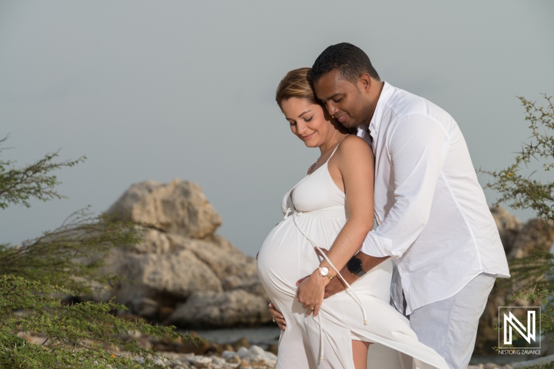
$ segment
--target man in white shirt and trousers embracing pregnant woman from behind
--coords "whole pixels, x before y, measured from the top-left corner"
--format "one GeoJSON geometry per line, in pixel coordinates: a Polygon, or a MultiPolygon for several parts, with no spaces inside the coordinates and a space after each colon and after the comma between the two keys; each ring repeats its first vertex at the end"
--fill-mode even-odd
{"type": "MultiPolygon", "coordinates": [[[[358,127],[375,155],[377,227],[341,274],[354,283],[393,258],[395,308],[451,368],[467,368],[494,279],[510,275],[458,125],[431,102],[382,82],[351,44],[325,49],[312,77],[329,113],[358,127]]],[[[343,289],[335,278],[325,297],[343,289]]]]}

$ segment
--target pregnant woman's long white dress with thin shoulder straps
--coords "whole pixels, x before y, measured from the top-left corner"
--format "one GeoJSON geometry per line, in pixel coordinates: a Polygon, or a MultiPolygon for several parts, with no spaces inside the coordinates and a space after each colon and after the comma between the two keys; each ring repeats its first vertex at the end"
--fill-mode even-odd
{"type": "Polygon", "coordinates": [[[389,305],[392,262],[375,267],[350,289],[323,301],[315,318],[296,299],[296,281],[314,272],[348,219],[346,195],[327,163],[285,194],[285,219],[271,230],[258,254],[258,275],[269,299],[285,316],[278,369],[354,368],[352,339],[368,341],[368,368],[448,369],[418,341],[409,321],[389,305]],[[364,324],[367,321],[366,324],[364,324]]]}

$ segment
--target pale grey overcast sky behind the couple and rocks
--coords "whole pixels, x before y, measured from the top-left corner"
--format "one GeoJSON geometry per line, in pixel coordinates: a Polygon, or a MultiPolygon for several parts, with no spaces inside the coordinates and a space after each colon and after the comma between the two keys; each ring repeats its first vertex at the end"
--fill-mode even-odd
{"type": "Polygon", "coordinates": [[[341,41],[451,113],[474,167],[507,166],[529,135],[517,96],[554,95],[553,15],[551,0],[0,0],[2,160],[88,158],[57,172],[69,199],[1,211],[0,242],[104,211],[134,182],[179,178],[255,255],[319,156],[289,132],[276,86],[341,41]]]}

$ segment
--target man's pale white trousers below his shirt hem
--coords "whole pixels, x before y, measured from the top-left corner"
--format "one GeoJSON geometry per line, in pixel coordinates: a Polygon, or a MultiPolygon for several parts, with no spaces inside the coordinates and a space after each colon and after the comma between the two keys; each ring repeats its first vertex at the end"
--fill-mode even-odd
{"type": "Polygon", "coordinates": [[[479,318],[495,279],[490,274],[479,274],[454,296],[422,306],[407,316],[419,341],[444,357],[451,369],[466,369],[470,363],[479,318]]]}

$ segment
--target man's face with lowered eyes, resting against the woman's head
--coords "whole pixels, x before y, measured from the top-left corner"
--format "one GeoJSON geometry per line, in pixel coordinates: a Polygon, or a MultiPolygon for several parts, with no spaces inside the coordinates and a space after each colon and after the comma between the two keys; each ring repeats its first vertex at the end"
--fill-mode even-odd
{"type": "Polygon", "coordinates": [[[369,125],[373,111],[368,100],[368,84],[360,77],[357,84],[343,79],[338,69],[325,73],[314,84],[316,95],[331,115],[346,127],[369,125]]]}

